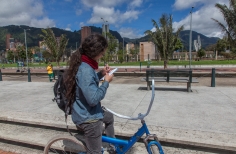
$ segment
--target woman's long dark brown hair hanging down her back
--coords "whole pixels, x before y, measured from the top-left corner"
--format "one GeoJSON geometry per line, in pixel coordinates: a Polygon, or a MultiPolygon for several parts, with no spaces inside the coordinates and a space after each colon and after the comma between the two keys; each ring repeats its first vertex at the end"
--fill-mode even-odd
{"type": "Polygon", "coordinates": [[[82,43],[81,47],[71,55],[69,68],[65,74],[66,98],[69,106],[74,103],[76,81],[75,76],[81,65],[81,55],[84,54],[90,58],[95,58],[107,48],[107,40],[100,34],[88,36],[82,43]]]}

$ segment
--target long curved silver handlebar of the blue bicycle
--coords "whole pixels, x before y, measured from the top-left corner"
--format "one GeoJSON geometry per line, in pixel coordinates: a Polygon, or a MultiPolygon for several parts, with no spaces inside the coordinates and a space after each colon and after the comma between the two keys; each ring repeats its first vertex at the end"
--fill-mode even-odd
{"type": "Polygon", "coordinates": [[[155,97],[155,82],[154,82],[154,79],[152,79],[152,98],[151,98],[149,107],[148,107],[148,109],[147,109],[147,112],[146,112],[145,114],[139,113],[139,114],[138,114],[138,117],[129,117],[129,116],[125,116],[125,115],[118,114],[118,113],[116,113],[116,112],[114,112],[114,111],[112,111],[112,110],[110,110],[110,109],[108,109],[108,108],[106,108],[106,107],[104,107],[104,109],[107,110],[108,112],[114,114],[115,116],[120,117],[120,118],[123,118],[123,119],[128,119],[128,120],[144,119],[144,117],[146,117],[146,116],[149,114],[149,112],[150,112],[150,110],[151,110],[151,108],[152,108],[152,104],[153,104],[153,101],[154,101],[154,97],[155,97]]]}

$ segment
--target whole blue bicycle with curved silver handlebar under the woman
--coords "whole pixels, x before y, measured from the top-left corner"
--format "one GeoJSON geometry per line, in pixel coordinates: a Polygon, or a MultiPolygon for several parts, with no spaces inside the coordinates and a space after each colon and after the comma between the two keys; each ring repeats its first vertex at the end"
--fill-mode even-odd
{"type": "MultiPolygon", "coordinates": [[[[105,110],[111,112],[117,117],[129,119],[129,120],[141,120],[142,127],[130,137],[129,140],[123,140],[118,138],[111,138],[107,136],[102,136],[102,142],[104,147],[101,148],[103,154],[108,152],[113,152],[117,154],[125,154],[144,134],[146,136],[143,139],[146,150],[149,154],[164,154],[161,144],[158,141],[158,138],[155,134],[150,134],[148,127],[144,121],[152,107],[155,97],[155,86],[154,80],[152,80],[152,98],[148,107],[148,110],[145,114],[138,114],[138,117],[128,117],[115,113],[114,111],[105,108],[105,110]],[[112,146],[111,146],[112,145],[112,146]]],[[[44,154],[86,154],[87,148],[82,139],[78,136],[56,136],[52,138],[44,148],[44,154]]]]}

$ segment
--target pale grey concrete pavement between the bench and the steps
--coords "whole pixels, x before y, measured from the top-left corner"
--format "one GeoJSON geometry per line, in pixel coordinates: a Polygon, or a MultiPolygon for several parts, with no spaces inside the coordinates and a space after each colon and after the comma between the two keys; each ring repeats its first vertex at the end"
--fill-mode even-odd
{"type": "MultiPolygon", "coordinates": [[[[65,126],[50,82],[0,82],[0,119],[65,126]]],[[[162,141],[236,149],[236,88],[156,84],[155,100],[145,121],[162,141]]],[[[143,84],[110,84],[102,105],[127,116],[145,113],[151,91],[143,84]]],[[[68,118],[70,119],[70,118],[68,118]]],[[[71,120],[71,127],[74,127],[71,120]]],[[[115,117],[116,134],[131,135],[140,121],[115,117]]]]}

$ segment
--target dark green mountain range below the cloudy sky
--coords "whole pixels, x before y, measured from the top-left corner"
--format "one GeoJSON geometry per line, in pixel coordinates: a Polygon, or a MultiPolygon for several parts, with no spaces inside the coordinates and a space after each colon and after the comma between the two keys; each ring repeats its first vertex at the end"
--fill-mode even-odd
{"type": "MultiPolygon", "coordinates": [[[[102,33],[101,27],[95,27],[90,26],[92,32],[102,33]]],[[[39,37],[39,34],[42,34],[41,28],[35,28],[35,27],[29,27],[29,26],[16,26],[16,25],[9,25],[9,26],[3,26],[0,27],[0,51],[6,49],[6,34],[11,34],[11,37],[19,42],[25,41],[25,34],[24,29],[26,29],[27,34],[27,46],[33,47],[38,46],[39,41],[42,41],[42,39],[39,37]]],[[[81,41],[81,30],[78,31],[67,31],[64,29],[59,28],[52,28],[54,34],[56,37],[60,36],[61,34],[65,34],[66,37],[69,39],[67,48],[76,48],[76,42],[77,46],[80,46],[81,41]]],[[[123,42],[123,38],[117,31],[110,30],[110,33],[115,36],[119,42],[123,42]]],[[[181,31],[180,33],[180,39],[184,45],[184,49],[189,49],[189,30],[181,31]]],[[[201,44],[202,48],[206,48],[209,45],[215,44],[219,38],[216,37],[207,37],[203,34],[197,33],[195,31],[192,31],[192,38],[193,40],[196,40],[198,35],[201,38],[201,44]]],[[[124,38],[124,44],[127,44],[129,42],[132,42],[134,44],[138,44],[139,42],[146,42],[149,41],[149,36],[144,36],[136,39],[130,39],[130,38],[124,38]]]]}

